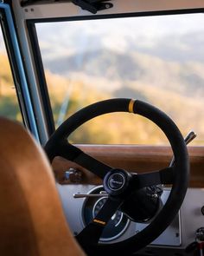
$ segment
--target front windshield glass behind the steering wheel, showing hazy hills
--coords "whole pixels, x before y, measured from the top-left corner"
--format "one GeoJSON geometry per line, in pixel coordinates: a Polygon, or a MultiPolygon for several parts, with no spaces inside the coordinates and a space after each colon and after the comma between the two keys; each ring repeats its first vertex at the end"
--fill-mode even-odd
{"type": "MultiPolygon", "coordinates": [[[[86,105],[115,97],[149,102],[204,145],[204,15],[36,23],[55,126],[86,105]]],[[[167,143],[137,115],[89,121],[75,143],[167,143]]]]}

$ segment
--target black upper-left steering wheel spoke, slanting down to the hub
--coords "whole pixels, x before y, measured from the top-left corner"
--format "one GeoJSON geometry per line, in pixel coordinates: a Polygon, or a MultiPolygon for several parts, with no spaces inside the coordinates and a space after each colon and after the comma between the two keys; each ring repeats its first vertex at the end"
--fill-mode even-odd
{"type": "Polygon", "coordinates": [[[96,160],[91,155],[86,154],[80,148],[73,146],[67,141],[63,141],[63,143],[60,144],[58,147],[58,154],[69,161],[74,161],[81,167],[84,167],[92,172],[92,174],[96,174],[101,179],[104,179],[105,174],[112,169],[112,167],[109,167],[99,160],[96,160]]]}

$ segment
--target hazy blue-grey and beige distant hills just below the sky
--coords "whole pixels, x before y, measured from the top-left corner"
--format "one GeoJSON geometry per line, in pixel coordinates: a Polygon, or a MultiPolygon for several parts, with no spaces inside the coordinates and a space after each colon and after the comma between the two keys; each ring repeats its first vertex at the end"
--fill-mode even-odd
{"type": "MultiPolygon", "coordinates": [[[[67,77],[106,79],[104,90],[112,82],[125,88],[129,82],[140,82],[156,88],[167,89],[181,95],[204,96],[204,62],[166,62],[156,56],[137,52],[117,53],[110,49],[88,51],[45,61],[45,66],[55,74],[67,77]]],[[[95,84],[97,86],[97,84],[95,84]]]]}

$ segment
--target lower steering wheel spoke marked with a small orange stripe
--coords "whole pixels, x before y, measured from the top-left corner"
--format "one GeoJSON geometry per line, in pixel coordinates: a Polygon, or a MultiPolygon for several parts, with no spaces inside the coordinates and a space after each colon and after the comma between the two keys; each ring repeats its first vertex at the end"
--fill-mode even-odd
{"type": "Polygon", "coordinates": [[[123,201],[120,198],[112,199],[112,197],[109,197],[94,219],[76,236],[80,245],[86,249],[86,253],[90,249],[87,245],[97,246],[106,224],[122,205],[123,201]]]}

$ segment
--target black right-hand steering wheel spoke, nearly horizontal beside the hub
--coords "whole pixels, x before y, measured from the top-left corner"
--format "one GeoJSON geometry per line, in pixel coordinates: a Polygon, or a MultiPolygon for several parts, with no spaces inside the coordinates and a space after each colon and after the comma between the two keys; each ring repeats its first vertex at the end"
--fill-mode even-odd
{"type": "Polygon", "coordinates": [[[132,175],[132,187],[143,188],[153,185],[167,185],[174,182],[174,167],[166,167],[159,171],[147,174],[132,175]]]}

